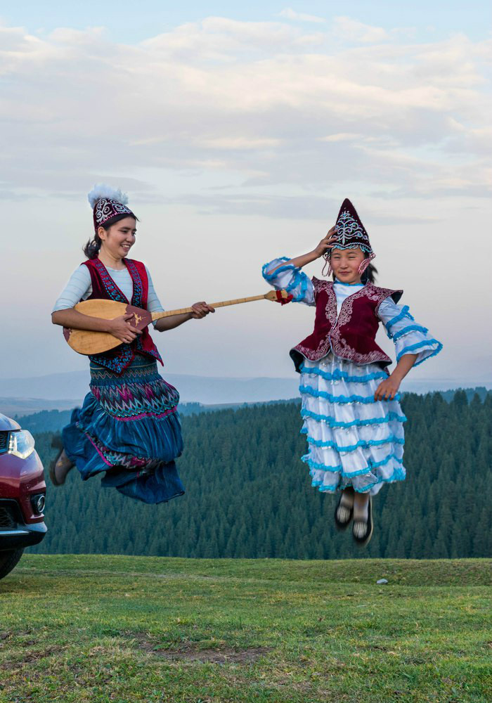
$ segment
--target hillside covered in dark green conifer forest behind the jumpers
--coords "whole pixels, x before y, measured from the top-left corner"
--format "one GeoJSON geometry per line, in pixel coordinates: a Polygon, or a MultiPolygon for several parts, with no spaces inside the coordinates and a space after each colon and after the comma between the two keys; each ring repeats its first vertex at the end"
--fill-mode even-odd
{"type": "MultiPolygon", "coordinates": [[[[150,506],[83,483],[72,472],[48,486],[42,553],[178,557],[490,557],[492,555],[492,395],[458,392],[403,400],[403,484],[375,500],[368,550],[332,525],[335,499],[311,489],[297,403],[223,410],[183,418],[179,460],[186,495],[150,506]]],[[[37,433],[46,465],[52,434],[37,433]]]]}

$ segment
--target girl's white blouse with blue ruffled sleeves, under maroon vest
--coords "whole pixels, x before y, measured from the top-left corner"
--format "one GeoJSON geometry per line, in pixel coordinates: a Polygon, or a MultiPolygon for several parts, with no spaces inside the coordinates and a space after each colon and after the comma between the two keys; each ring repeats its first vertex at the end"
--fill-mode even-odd
{"type": "MultiPolygon", "coordinates": [[[[292,264],[280,266],[279,269],[270,273],[276,266],[287,261],[289,261],[287,257],[281,257],[268,262],[263,267],[263,277],[270,285],[273,285],[273,288],[286,290],[293,296],[293,302],[315,305],[313,282],[297,266],[292,264]]],[[[356,292],[362,285],[361,283],[356,285],[340,283],[335,280],[337,313],[339,313],[344,299],[356,292]]],[[[429,330],[426,327],[415,322],[415,318],[410,315],[408,305],[398,305],[391,297],[388,297],[380,304],[377,316],[384,325],[388,337],[394,342],[396,361],[399,361],[405,354],[416,354],[415,366],[418,366],[422,361],[439,354],[441,351],[441,342],[429,335],[429,330]]]]}

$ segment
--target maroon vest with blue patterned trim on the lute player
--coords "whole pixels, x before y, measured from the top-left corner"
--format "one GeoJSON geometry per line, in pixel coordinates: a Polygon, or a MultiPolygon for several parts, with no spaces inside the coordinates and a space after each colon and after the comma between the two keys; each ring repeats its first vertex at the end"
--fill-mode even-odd
{"type": "MultiPolygon", "coordinates": [[[[134,259],[123,259],[127,266],[131,280],[134,284],[134,292],[131,296],[131,301],[119,290],[114,280],[112,280],[108,269],[99,259],[89,259],[84,264],[89,269],[91,274],[92,292],[91,298],[103,298],[105,300],[117,300],[122,303],[131,302],[136,307],[147,309],[148,298],[148,276],[144,264],[134,261],[134,259]]],[[[135,359],[135,354],[150,356],[162,363],[161,356],[157,351],[157,347],[152,341],[152,337],[148,332],[148,328],[143,330],[141,335],[138,335],[136,340],[131,344],[120,344],[116,349],[111,349],[103,354],[94,354],[89,356],[91,361],[105,366],[115,373],[122,373],[127,366],[135,359]]]]}

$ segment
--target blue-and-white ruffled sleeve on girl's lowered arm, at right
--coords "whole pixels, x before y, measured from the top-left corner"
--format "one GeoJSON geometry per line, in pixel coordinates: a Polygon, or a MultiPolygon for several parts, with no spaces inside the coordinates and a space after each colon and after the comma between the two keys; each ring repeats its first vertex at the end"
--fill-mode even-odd
{"type": "Polygon", "coordinates": [[[427,327],[422,327],[410,315],[408,305],[397,305],[391,297],[380,304],[377,316],[386,328],[390,340],[396,348],[396,361],[405,354],[417,354],[415,366],[439,354],[443,345],[429,334],[427,327]]]}

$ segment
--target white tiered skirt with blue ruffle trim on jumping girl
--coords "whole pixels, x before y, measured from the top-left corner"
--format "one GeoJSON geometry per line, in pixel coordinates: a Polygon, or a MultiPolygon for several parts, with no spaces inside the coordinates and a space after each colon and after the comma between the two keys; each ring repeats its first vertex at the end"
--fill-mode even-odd
{"type": "Polygon", "coordinates": [[[403,481],[403,423],[398,398],[375,401],[387,374],[375,363],[360,366],[332,354],[304,360],[301,368],[302,434],[313,486],[334,493],[354,486],[377,494],[384,483],[403,481]]]}

